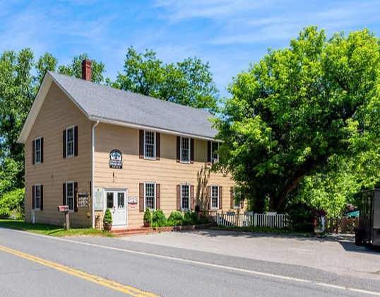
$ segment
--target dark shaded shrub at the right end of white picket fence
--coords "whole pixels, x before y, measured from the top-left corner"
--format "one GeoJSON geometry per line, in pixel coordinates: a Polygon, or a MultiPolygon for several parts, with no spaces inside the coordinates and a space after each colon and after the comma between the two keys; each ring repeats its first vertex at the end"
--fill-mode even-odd
{"type": "Polygon", "coordinates": [[[313,232],[314,215],[313,208],[303,202],[290,204],[286,207],[289,219],[292,221],[294,231],[313,232]]]}

